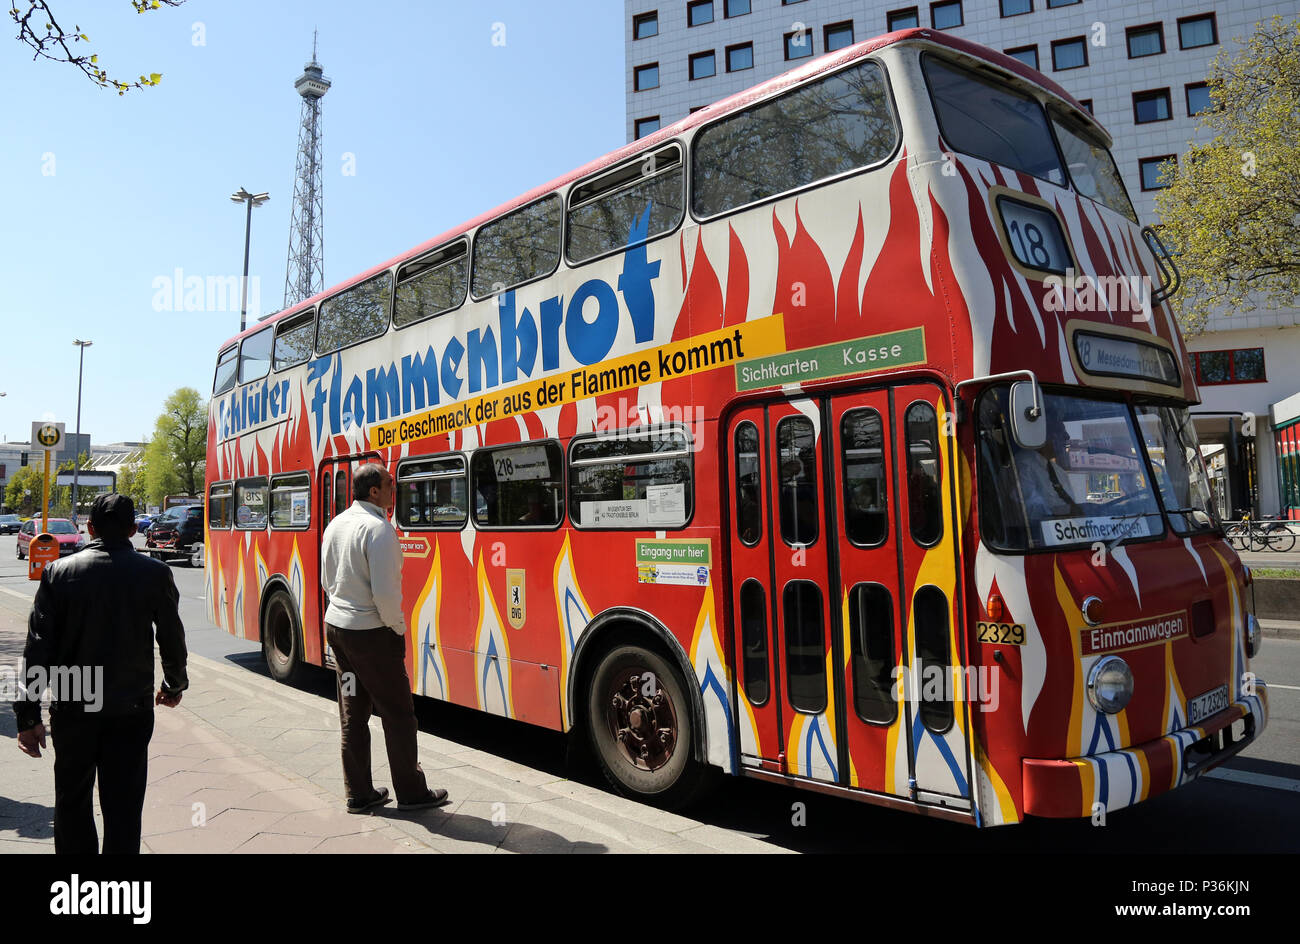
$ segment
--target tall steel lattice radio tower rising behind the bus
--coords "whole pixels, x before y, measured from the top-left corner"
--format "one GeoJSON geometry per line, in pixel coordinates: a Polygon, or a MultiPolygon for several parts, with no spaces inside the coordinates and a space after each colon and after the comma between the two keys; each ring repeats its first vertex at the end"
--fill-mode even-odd
{"type": "Polygon", "coordinates": [[[285,307],[311,298],[325,287],[325,196],[321,186],[321,99],[329,91],[316,61],[316,34],[312,33],[312,61],[294,88],[303,96],[298,124],[298,169],[294,172],[294,211],[289,222],[289,263],[285,265],[285,307]]]}

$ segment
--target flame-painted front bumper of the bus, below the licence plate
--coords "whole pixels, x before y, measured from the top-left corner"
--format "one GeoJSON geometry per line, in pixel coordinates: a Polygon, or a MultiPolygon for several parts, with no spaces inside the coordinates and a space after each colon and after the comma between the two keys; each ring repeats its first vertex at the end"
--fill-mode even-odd
{"type": "Polygon", "coordinates": [[[1065,761],[1024,758],[1024,811],[1032,817],[1092,817],[1121,810],[1182,787],[1228,759],[1264,732],[1269,688],[1239,696],[1196,727],[1153,741],[1065,761]],[[1234,740],[1232,726],[1244,722],[1234,740]]]}

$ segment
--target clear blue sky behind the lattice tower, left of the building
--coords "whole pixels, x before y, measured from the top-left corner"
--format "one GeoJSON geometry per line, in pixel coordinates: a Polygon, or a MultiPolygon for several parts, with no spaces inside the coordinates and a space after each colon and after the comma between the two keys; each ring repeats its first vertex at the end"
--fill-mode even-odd
{"type": "MultiPolygon", "coordinates": [[[[5,4],[5,13],[8,14],[5,4]]],[[[20,0],[26,7],[26,0],[20,0]]],[[[92,442],[148,438],[182,386],[207,397],[239,300],[177,306],[185,280],[238,277],[250,322],[281,308],[302,100],[322,99],[325,286],[384,263],[624,143],[619,0],[51,0],[125,96],[0,33],[0,436],[77,416],[92,442]],[[176,308],[181,308],[177,311],[176,308]],[[187,308],[200,307],[199,311],[187,308]],[[170,309],[169,309],[170,308],[170,309]]],[[[78,51],[81,49],[78,47],[78,51]]],[[[214,282],[217,283],[217,282],[214,282]]],[[[192,302],[191,296],[191,302],[192,302]]]]}

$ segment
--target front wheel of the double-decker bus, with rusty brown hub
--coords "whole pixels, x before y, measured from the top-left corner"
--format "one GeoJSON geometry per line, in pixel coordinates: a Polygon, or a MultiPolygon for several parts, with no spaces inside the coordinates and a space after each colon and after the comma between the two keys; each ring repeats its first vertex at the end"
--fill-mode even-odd
{"type": "Polygon", "coordinates": [[[666,809],[686,805],[702,771],[692,758],[696,720],[677,670],[658,653],[616,646],[601,658],[586,698],[592,753],[614,788],[666,809]]]}

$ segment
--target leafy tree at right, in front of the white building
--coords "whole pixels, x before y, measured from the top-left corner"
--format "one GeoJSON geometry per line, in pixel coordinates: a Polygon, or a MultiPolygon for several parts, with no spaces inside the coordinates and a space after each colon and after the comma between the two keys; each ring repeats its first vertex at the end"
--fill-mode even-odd
{"type": "Polygon", "coordinates": [[[1300,300],[1300,20],[1261,23],[1210,66],[1214,137],[1166,165],[1156,196],[1176,252],[1179,321],[1199,333],[1216,312],[1300,300]]]}

